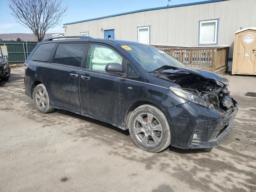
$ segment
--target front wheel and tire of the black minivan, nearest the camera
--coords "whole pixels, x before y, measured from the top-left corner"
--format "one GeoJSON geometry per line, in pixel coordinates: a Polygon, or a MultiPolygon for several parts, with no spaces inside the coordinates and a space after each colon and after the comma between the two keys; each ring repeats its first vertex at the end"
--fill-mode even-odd
{"type": "Polygon", "coordinates": [[[146,104],[136,108],[128,122],[130,136],[141,149],[157,153],[171,143],[171,132],[164,113],[146,104]]]}

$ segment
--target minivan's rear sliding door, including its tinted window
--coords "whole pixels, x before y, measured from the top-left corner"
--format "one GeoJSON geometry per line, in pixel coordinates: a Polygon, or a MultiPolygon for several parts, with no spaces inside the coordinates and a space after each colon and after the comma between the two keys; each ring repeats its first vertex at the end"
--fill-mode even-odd
{"type": "Polygon", "coordinates": [[[45,68],[46,88],[56,108],[80,112],[79,72],[86,43],[59,43],[52,64],[45,68]]]}

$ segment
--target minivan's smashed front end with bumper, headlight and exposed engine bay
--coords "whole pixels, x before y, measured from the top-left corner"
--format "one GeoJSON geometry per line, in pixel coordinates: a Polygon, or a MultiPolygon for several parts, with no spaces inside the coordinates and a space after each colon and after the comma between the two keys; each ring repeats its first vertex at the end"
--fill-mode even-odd
{"type": "Polygon", "coordinates": [[[170,90],[188,100],[166,109],[171,145],[185,149],[218,146],[230,134],[238,110],[227,88],[228,80],[217,74],[216,78],[207,78],[208,72],[204,76],[190,71],[168,72],[159,77],[180,85],[170,90]]]}

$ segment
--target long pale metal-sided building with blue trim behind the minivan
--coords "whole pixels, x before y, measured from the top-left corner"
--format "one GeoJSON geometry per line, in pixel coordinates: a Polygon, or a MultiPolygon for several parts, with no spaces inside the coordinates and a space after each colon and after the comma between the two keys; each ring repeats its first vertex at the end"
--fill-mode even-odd
{"type": "Polygon", "coordinates": [[[232,64],[234,33],[256,26],[255,10],[256,0],[208,0],[66,23],[64,32],[152,45],[229,46],[232,64]]]}

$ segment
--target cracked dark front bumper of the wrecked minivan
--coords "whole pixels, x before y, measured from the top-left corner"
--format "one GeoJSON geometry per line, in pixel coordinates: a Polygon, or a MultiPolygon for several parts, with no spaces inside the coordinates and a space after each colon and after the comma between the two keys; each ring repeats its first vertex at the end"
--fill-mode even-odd
{"type": "Polygon", "coordinates": [[[237,103],[226,112],[187,102],[166,109],[171,129],[171,146],[184,149],[213,148],[230,134],[237,103]],[[193,135],[197,138],[193,139],[193,135]]]}

